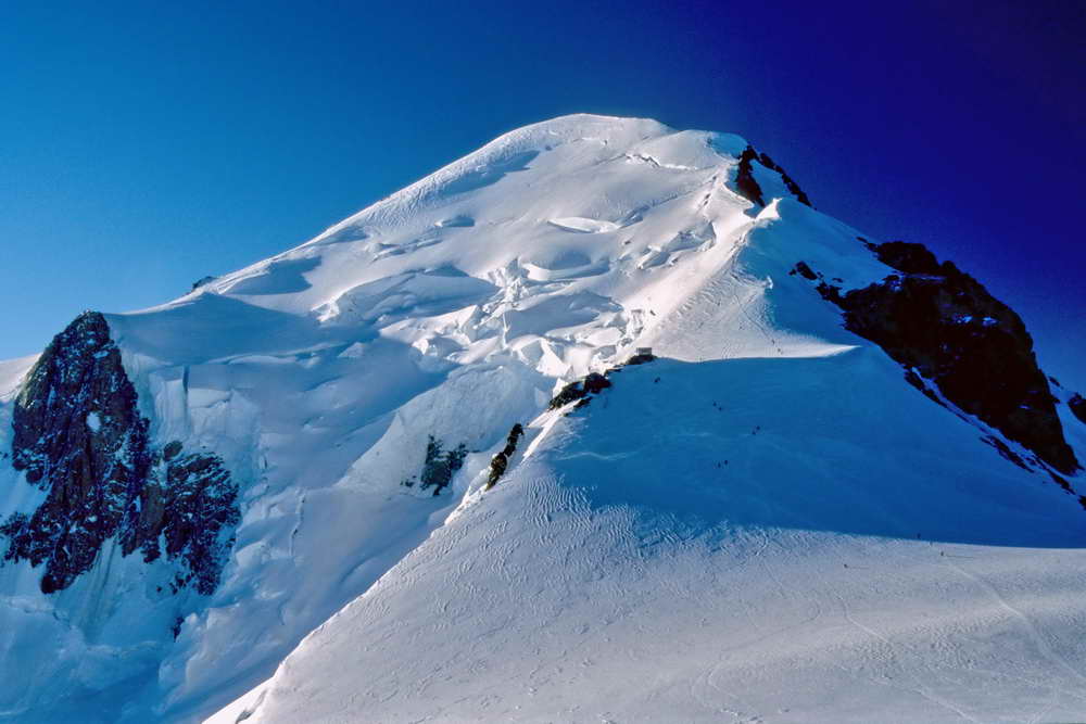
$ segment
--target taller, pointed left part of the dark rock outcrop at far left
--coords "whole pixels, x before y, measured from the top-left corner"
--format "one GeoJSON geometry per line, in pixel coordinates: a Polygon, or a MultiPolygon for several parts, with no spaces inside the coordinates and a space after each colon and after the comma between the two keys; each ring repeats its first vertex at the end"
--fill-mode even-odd
{"type": "Polygon", "coordinates": [[[12,428],[13,467],[49,495],[0,526],[4,558],[45,563],[41,589],[52,593],[91,567],[153,465],[136,390],[101,315],[84,313],[53,339],[15,401],[12,428]]]}

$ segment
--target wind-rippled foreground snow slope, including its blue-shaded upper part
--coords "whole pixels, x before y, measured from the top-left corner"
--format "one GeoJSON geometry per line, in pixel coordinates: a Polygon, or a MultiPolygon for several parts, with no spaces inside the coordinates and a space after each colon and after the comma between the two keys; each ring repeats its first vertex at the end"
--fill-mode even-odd
{"type": "Polygon", "coordinates": [[[880,350],[611,379],[213,721],[1082,719],[1082,511],[880,350]]]}

